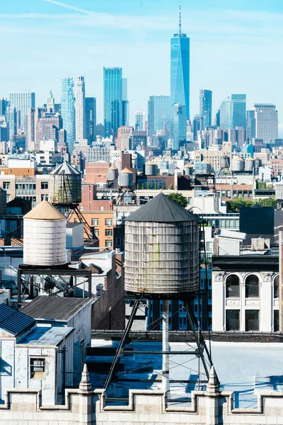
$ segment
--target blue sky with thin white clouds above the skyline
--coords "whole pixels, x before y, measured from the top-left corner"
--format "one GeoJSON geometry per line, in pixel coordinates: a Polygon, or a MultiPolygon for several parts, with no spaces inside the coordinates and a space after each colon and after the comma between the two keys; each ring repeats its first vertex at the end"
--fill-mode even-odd
{"type": "MultiPolygon", "coordinates": [[[[169,94],[170,38],[178,0],[8,0],[0,11],[0,97],[35,91],[37,104],[60,80],[84,75],[103,119],[103,66],[122,67],[130,113],[150,95],[169,94]]],[[[191,112],[212,89],[214,112],[231,93],[248,106],[275,103],[283,136],[283,1],[183,0],[191,42],[191,112]]]]}

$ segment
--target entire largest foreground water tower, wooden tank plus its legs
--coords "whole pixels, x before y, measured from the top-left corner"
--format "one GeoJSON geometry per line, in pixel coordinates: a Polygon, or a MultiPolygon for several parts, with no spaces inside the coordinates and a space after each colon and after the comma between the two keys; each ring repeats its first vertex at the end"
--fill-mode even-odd
{"type": "MultiPolygon", "coordinates": [[[[207,378],[209,370],[203,353],[201,332],[195,331],[194,314],[190,302],[200,288],[200,217],[160,193],[125,218],[125,290],[134,300],[125,333],[117,349],[110,373],[105,381],[107,389],[117,358],[129,335],[139,300],[162,300],[162,384],[169,385],[169,303],[182,300],[187,310],[190,327],[197,344],[207,378]]],[[[196,356],[196,351],[191,353],[196,356]]],[[[209,355],[209,361],[211,357],[209,355]]],[[[212,363],[212,362],[211,362],[212,363]]],[[[200,376],[200,373],[199,373],[200,376]]]]}

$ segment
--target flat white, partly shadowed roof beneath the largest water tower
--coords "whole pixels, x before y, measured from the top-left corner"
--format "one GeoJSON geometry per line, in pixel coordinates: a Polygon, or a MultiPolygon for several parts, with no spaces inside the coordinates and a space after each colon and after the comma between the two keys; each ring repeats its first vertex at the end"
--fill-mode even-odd
{"type": "MultiPolygon", "coordinates": [[[[109,348],[117,347],[117,341],[93,340],[93,353],[96,348],[109,353],[109,348]],[[95,348],[94,348],[95,347],[95,348]]],[[[191,343],[171,343],[171,351],[192,351],[191,343]]],[[[141,354],[135,351],[161,351],[159,342],[136,341],[125,349],[132,354],[122,356],[115,380],[108,387],[108,397],[118,397],[112,404],[127,404],[129,389],[161,389],[161,354],[141,354]],[[124,401],[122,401],[124,399],[124,401]]],[[[257,406],[261,391],[283,390],[283,344],[280,343],[231,343],[212,341],[212,360],[219,377],[222,391],[233,391],[235,407],[257,406]]],[[[86,362],[90,370],[93,388],[103,387],[108,370],[106,363],[112,363],[114,354],[109,356],[88,356],[86,362]]],[[[171,382],[171,404],[190,405],[190,393],[197,390],[198,359],[188,354],[170,356],[169,379],[171,382]],[[178,382],[180,381],[180,382],[178,382]],[[190,382],[191,381],[191,382],[190,382]]],[[[203,366],[201,380],[206,380],[203,366]]],[[[201,384],[200,390],[205,389],[201,384]]]]}

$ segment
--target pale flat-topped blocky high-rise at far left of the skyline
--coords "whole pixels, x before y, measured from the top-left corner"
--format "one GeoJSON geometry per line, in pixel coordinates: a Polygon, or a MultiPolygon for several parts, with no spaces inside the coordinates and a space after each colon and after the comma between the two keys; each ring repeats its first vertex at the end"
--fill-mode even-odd
{"type": "Polygon", "coordinates": [[[28,110],[35,108],[35,93],[23,91],[10,93],[10,106],[17,111],[17,127],[26,130],[28,110]]]}

